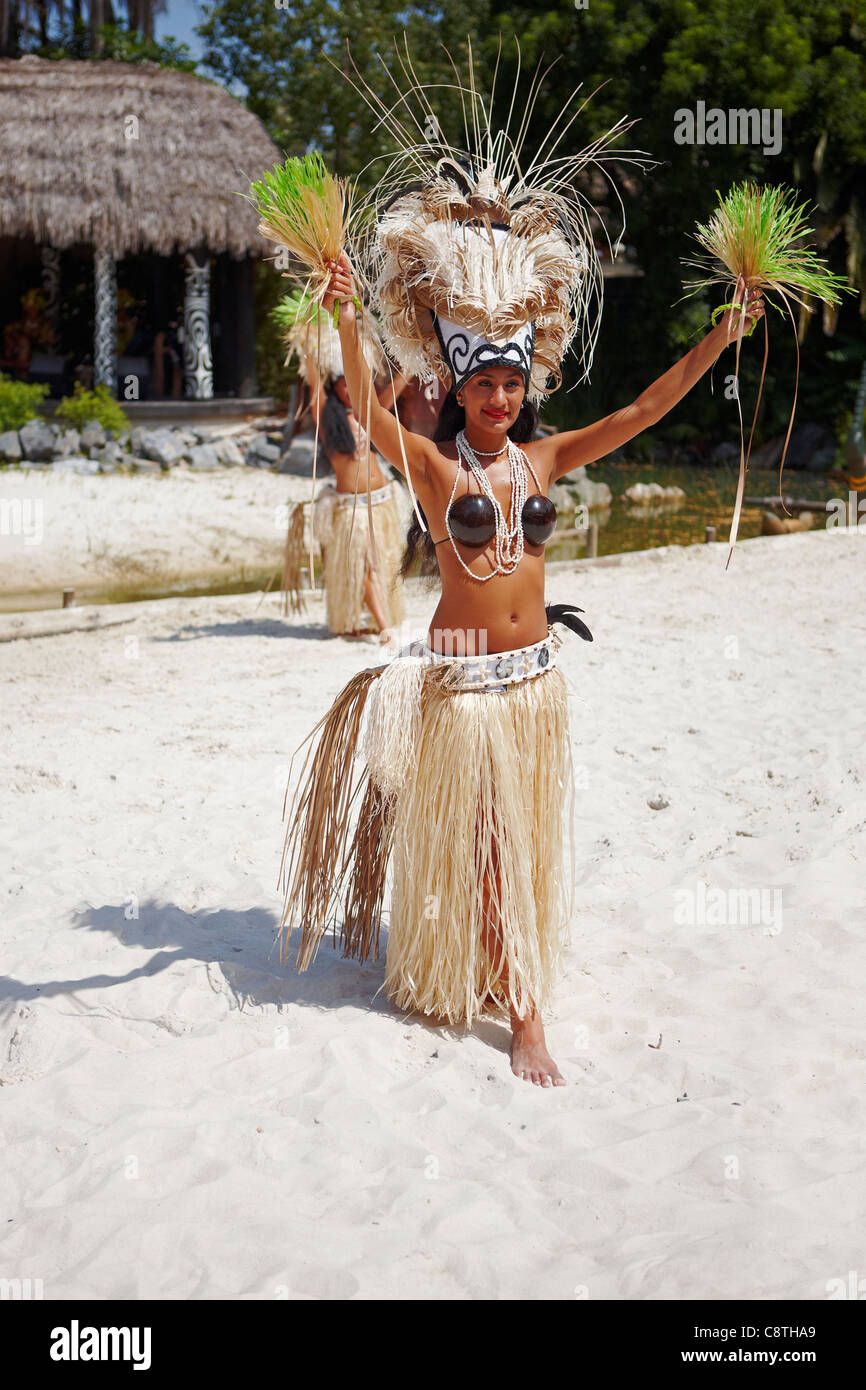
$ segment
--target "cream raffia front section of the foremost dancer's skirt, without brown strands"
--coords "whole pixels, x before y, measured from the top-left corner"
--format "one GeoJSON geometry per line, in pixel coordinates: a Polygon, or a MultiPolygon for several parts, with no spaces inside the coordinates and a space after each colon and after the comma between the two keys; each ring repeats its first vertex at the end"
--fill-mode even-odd
{"type": "Polygon", "coordinates": [[[571,915],[573,809],[559,669],[503,694],[425,687],[392,833],[393,1004],[466,1023],[549,1005],[571,915]]]}

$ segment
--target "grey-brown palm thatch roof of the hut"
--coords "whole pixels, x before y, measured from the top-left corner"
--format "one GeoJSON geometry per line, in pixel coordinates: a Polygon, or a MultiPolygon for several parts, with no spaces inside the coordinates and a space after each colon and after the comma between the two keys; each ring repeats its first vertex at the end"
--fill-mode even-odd
{"type": "Polygon", "coordinates": [[[0,236],[264,256],[238,193],[282,160],[225,88],[145,63],[0,60],[0,236]]]}

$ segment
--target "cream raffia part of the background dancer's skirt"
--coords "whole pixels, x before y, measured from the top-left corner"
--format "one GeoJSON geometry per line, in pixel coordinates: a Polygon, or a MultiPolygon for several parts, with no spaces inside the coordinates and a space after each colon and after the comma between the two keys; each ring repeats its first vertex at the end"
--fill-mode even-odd
{"type": "Polygon", "coordinates": [[[379,599],[388,627],[399,627],[405,617],[403,585],[399,578],[405,527],[393,496],[377,502],[373,514],[375,550],[370,545],[367,500],[361,492],[354,506],[335,506],[329,535],[322,546],[325,569],[325,606],[331,632],[354,632],[364,626],[364,581],[367,567],[375,563],[379,599]],[[352,535],[349,535],[352,530],[352,535]],[[378,563],[377,563],[378,562],[378,563]]]}

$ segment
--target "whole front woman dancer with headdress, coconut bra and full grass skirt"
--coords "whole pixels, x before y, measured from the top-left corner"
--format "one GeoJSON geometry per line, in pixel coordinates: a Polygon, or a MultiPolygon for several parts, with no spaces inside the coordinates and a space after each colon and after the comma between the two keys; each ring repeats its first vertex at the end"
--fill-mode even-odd
{"type": "MultiPolygon", "coordinates": [[[[361,418],[370,410],[373,443],[420,502],[442,594],[425,641],[354,676],[313,731],[281,866],[281,945],[297,924],[303,970],[339,920],[345,954],[375,956],[393,858],[389,999],[450,1023],[507,1019],[512,1070],[552,1087],[564,1077],[542,1011],[573,884],[563,853],[571,742],[555,624],[591,634],[580,609],[545,607],[544,546],[556,524],[548,493],[662,420],[763,307],[751,300],[746,310],[738,286],[719,327],[632,404],[532,439],[534,406],[575,334],[591,356],[601,271],[588,221],[562,195],[560,160],[550,170],[535,160],[530,183],[489,125],[480,146],[460,158],[434,152],[427,179],[388,189],[377,208],[378,321],[405,375],[448,388],[435,442],[378,404],[352,265],[345,254],[329,263],[324,307],[341,304],[349,396],[361,418]]],[[[573,157],[575,171],[585,163],[573,157]]]]}

